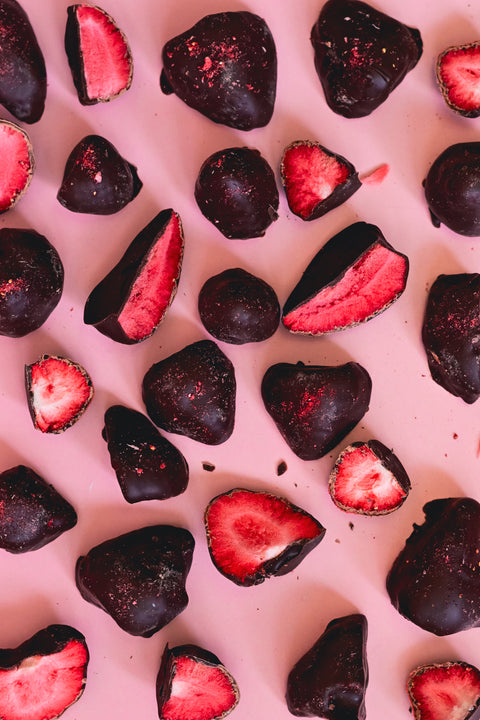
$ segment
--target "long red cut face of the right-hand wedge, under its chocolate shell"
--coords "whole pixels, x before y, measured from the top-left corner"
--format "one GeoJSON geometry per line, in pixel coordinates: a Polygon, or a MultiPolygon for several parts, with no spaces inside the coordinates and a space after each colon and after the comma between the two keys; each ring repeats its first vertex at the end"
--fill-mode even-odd
{"type": "Polygon", "coordinates": [[[403,292],[406,274],[406,259],[377,243],[338,282],[285,315],[283,323],[292,332],[319,335],[364,322],[403,292]]]}

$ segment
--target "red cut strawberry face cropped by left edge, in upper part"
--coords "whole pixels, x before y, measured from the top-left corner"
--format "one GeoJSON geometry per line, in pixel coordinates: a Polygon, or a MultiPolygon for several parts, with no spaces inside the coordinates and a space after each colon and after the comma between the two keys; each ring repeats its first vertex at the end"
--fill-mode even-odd
{"type": "Polygon", "coordinates": [[[25,133],[0,122],[0,212],[5,212],[26,190],[32,175],[32,157],[25,133]]]}

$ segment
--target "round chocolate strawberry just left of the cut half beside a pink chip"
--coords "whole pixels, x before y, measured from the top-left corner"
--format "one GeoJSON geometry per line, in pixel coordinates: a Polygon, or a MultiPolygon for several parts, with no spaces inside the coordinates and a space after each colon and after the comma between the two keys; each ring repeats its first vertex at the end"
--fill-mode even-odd
{"type": "Polygon", "coordinates": [[[200,168],[195,199],[227,238],[261,237],[278,217],[275,175],[251,148],[226,148],[210,155],[200,168]]]}

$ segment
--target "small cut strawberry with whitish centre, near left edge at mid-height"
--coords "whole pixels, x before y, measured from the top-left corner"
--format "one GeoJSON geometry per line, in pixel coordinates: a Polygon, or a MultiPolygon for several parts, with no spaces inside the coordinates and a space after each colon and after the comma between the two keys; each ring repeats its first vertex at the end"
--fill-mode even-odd
{"type": "Polygon", "coordinates": [[[56,355],[26,365],[25,386],[33,424],[44,433],[60,433],[76,423],[93,398],[87,371],[56,355]]]}

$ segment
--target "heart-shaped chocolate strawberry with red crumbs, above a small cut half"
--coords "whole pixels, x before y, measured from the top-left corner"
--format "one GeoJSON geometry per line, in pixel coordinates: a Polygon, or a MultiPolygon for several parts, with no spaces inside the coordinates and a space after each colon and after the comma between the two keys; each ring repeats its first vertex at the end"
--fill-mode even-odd
{"type": "Polygon", "coordinates": [[[272,365],[262,398],[282,437],[302,460],[326,455],[368,410],[372,381],[358,363],[272,365]]]}

